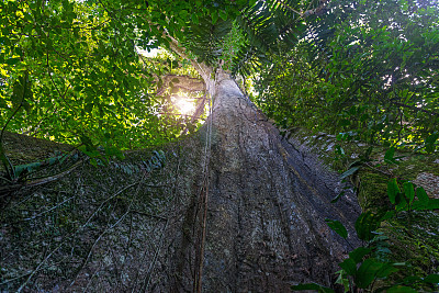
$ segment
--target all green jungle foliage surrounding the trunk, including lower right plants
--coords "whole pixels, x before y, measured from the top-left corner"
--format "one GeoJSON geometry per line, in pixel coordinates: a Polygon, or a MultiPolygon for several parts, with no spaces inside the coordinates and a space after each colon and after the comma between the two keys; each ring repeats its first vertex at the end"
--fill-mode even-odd
{"type": "MultiPolygon", "coordinates": [[[[342,178],[370,164],[372,148],[387,166],[398,164],[398,151],[437,156],[438,15],[434,0],[1,1],[1,182],[23,183],[29,178],[21,173],[44,165],[14,166],[2,146],[5,132],[75,145],[91,158],[122,158],[123,150],[196,128],[169,98],[178,80],[159,93],[166,75],[200,78],[194,63],[241,77],[285,133],[303,127],[336,136],[336,158],[346,156],[341,143],[365,145],[342,178]],[[172,46],[184,57],[169,53],[172,46]],[[139,54],[156,48],[169,52],[139,54]]],[[[346,291],[372,291],[376,280],[393,283],[381,288],[387,292],[434,291],[437,271],[394,277],[405,263],[383,257],[386,238],[375,230],[402,213],[438,209],[438,200],[385,176],[387,210],[360,216],[364,246],[340,263],[338,282],[346,291]]],[[[327,223],[346,238],[340,223],[327,223]]]]}

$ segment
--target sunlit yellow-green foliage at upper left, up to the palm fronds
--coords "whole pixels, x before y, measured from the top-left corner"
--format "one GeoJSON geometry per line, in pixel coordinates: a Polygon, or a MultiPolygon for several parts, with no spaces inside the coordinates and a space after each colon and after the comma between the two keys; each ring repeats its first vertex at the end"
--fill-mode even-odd
{"type": "Polygon", "coordinates": [[[191,15],[211,19],[219,4],[222,20],[238,11],[203,1],[2,1],[0,125],[92,157],[98,146],[110,154],[175,139],[188,122],[160,115],[155,93],[161,75],[189,61],[139,58],[137,48],[166,46],[166,32],[182,37],[191,15]]]}

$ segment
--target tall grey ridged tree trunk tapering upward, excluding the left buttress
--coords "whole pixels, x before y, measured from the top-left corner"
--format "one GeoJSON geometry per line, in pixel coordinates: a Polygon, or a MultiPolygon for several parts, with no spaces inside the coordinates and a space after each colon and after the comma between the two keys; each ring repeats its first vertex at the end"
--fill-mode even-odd
{"type": "Polygon", "coordinates": [[[282,139],[227,74],[219,71],[215,82],[204,126],[211,138],[209,177],[201,209],[190,214],[196,240],[178,256],[180,269],[192,271],[194,280],[176,290],[285,292],[300,282],[329,285],[349,248],[325,218],[341,221],[353,235],[356,201],[330,204],[337,176],[282,139]],[[192,264],[181,263],[193,258],[192,264]]]}

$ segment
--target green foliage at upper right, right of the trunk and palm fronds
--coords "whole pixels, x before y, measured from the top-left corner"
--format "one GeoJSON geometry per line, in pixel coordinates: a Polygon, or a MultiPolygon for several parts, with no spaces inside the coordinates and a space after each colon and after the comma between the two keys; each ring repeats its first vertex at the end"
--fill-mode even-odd
{"type": "Polygon", "coordinates": [[[283,128],[434,151],[437,3],[333,1],[328,10],[293,50],[281,52],[262,70],[258,104],[283,128]]]}

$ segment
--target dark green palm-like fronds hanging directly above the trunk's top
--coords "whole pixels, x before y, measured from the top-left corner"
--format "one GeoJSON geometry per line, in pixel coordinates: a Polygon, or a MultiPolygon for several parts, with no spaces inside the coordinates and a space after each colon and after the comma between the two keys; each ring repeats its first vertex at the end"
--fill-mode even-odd
{"type": "Polygon", "coordinates": [[[224,40],[235,23],[244,32],[246,42],[233,58],[233,74],[249,75],[280,47],[282,50],[292,48],[306,27],[305,14],[320,3],[322,0],[258,0],[243,9],[234,21],[218,19],[213,23],[206,16],[196,24],[189,24],[181,43],[199,61],[214,66],[223,55],[224,40]]]}

